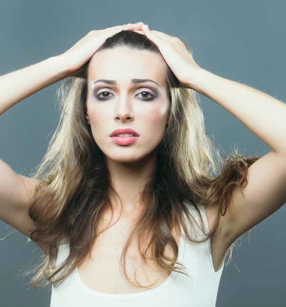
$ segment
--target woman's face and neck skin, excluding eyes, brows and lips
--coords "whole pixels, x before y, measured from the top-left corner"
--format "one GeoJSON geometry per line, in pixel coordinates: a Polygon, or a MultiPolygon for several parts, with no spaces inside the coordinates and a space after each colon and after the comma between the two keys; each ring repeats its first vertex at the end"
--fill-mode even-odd
{"type": "MultiPolygon", "coordinates": [[[[160,55],[123,47],[96,52],[90,62],[86,118],[96,144],[105,154],[111,183],[122,202],[122,217],[132,217],[139,211],[140,188],[156,167],[156,149],[168,124],[166,67],[160,55]],[[159,85],[133,84],[132,78],[152,79],[159,85]],[[98,79],[116,80],[117,84],[93,84],[98,79]],[[156,91],[157,97],[144,100],[156,91]],[[96,95],[105,100],[97,100],[96,95]],[[109,137],[117,128],[132,128],[140,137],[130,145],[118,145],[109,137]]],[[[110,193],[110,199],[115,212],[120,212],[118,197],[110,193]]]]}

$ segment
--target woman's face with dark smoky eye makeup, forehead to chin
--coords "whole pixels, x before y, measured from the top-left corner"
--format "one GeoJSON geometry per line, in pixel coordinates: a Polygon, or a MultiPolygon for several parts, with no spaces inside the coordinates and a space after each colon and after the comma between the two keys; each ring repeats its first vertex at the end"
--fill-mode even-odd
{"type": "Polygon", "coordinates": [[[163,58],[149,51],[120,47],[95,53],[88,71],[86,118],[106,157],[135,162],[160,144],[169,111],[165,69],[163,58]],[[111,133],[125,128],[135,130],[139,137],[129,145],[116,143],[119,138],[127,139],[111,138],[111,133]]]}

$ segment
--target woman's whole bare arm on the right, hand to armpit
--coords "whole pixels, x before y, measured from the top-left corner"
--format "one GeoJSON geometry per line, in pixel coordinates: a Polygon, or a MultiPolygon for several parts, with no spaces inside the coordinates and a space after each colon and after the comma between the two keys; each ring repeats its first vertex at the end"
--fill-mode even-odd
{"type": "Polygon", "coordinates": [[[248,168],[246,186],[232,190],[220,218],[219,236],[233,243],[286,202],[286,104],[200,68],[177,37],[144,27],[138,32],[158,46],[182,86],[218,103],[271,148],[248,168]]]}

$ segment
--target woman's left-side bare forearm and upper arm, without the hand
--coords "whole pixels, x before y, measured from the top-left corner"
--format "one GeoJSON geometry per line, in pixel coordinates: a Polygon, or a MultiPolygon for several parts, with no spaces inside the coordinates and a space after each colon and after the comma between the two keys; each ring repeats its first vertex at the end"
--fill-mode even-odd
{"type": "MultiPolygon", "coordinates": [[[[40,63],[0,76],[0,114],[41,89],[68,77],[65,61],[50,57],[40,63]]],[[[29,196],[38,180],[16,174],[0,160],[0,220],[30,237],[29,196]]],[[[45,253],[48,247],[39,243],[45,253]]]]}

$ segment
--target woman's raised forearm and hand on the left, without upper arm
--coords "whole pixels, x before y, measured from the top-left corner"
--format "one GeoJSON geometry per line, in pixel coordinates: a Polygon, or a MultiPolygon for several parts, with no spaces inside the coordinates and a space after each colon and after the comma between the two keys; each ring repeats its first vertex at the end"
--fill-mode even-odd
{"type": "Polygon", "coordinates": [[[110,36],[120,30],[141,28],[142,23],[92,30],[65,53],[0,76],[0,115],[16,103],[66,77],[81,67],[110,36]]]}

